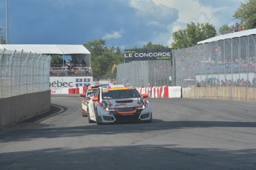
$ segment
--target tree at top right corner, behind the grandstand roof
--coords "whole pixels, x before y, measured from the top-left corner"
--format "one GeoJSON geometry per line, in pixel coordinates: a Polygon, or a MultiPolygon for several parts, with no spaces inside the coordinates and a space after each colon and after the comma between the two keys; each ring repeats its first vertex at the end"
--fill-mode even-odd
{"type": "Polygon", "coordinates": [[[240,2],[240,7],[234,12],[234,18],[239,18],[243,29],[253,29],[256,27],[256,0],[246,0],[240,2]]]}

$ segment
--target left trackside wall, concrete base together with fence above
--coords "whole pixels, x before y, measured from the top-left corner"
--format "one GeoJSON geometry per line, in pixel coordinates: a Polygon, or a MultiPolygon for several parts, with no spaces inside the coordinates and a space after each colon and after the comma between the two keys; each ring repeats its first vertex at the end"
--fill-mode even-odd
{"type": "Polygon", "coordinates": [[[0,49],[0,128],[50,110],[49,55],[0,49]]]}

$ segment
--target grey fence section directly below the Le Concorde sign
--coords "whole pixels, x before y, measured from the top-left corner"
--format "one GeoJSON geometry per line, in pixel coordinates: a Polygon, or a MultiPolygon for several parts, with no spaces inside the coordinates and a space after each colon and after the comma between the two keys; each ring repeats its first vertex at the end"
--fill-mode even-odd
{"type": "Polygon", "coordinates": [[[133,86],[171,86],[171,60],[133,61],[119,64],[116,81],[133,86]]]}

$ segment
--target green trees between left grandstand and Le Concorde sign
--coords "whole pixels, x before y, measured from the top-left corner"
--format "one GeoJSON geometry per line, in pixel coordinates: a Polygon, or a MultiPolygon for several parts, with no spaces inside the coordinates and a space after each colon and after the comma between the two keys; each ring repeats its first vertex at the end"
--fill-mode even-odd
{"type": "Polygon", "coordinates": [[[91,52],[91,67],[93,77],[115,78],[116,71],[112,74],[111,69],[114,64],[122,64],[124,55],[119,47],[105,47],[103,39],[89,41],[84,46],[91,52]]]}

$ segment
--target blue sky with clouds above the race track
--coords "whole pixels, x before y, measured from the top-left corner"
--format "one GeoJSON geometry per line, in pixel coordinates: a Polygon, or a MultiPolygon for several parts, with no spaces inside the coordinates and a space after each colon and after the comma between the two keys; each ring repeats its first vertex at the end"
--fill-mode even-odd
{"type": "MultiPolygon", "coordinates": [[[[148,42],[171,47],[186,24],[239,23],[239,0],[0,0],[0,28],[9,44],[85,44],[105,39],[121,50],[148,42]]],[[[241,0],[244,2],[245,0],[241,0]]]]}

